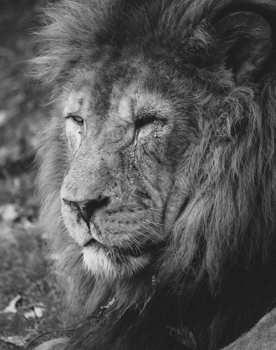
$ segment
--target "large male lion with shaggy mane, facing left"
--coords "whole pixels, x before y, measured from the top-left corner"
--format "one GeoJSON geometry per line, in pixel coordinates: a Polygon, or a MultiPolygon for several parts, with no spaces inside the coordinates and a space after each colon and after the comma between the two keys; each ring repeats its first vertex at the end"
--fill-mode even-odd
{"type": "Polygon", "coordinates": [[[275,349],[276,2],[44,19],[41,220],[71,328],[39,349],[275,349]]]}

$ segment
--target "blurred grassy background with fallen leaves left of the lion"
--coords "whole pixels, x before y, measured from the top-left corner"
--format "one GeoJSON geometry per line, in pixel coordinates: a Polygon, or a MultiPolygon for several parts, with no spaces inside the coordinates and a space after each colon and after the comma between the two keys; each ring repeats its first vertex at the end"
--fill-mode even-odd
{"type": "Polygon", "coordinates": [[[0,349],[60,336],[62,309],[37,223],[35,152],[48,91],[28,76],[43,0],[0,0],[0,349]]]}

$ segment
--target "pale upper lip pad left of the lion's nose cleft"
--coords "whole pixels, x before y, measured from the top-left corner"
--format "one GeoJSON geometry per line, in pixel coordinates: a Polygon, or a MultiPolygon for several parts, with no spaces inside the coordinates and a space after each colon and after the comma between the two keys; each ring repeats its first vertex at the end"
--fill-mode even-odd
{"type": "Polygon", "coordinates": [[[61,205],[61,214],[69,235],[83,247],[91,239],[86,224],[64,204],[61,205]]]}

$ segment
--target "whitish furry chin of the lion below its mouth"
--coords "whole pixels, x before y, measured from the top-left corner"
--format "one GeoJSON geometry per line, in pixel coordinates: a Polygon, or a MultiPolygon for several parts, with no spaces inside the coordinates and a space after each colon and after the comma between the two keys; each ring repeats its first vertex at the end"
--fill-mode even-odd
{"type": "Polygon", "coordinates": [[[83,261],[87,271],[94,276],[109,280],[121,276],[132,277],[149,265],[151,256],[150,251],[133,256],[118,254],[118,251],[107,251],[99,245],[88,245],[83,248],[83,261]]]}

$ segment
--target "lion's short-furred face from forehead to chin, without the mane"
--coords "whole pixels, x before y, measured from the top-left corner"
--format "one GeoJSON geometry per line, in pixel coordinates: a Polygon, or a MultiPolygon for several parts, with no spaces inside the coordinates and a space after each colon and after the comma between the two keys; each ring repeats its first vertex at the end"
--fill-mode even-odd
{"type": "Polygon", "coordinates": [[[64,88],[61,203],[87,269],[114,278],[147,266],[168,235],[174,173],[192,133],[164,68],[109,64],[76,69],[64,88]]]}

